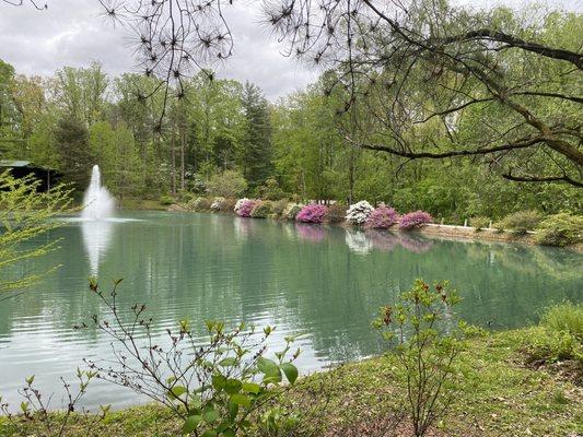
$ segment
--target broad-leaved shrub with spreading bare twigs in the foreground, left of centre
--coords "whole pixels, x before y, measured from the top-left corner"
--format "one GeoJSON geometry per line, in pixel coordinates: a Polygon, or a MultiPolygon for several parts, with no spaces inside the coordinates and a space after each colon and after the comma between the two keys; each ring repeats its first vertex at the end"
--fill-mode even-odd
{"type": "Polygon", "coordinates": [[[298,379],[292,363],[300,351],[290,354],[293,336],[276,352],[277,361],[265,356],[272,328],[263,334],[244,323],[230,330],[220,321],[207,321],[207,339],[201,342],[189,321],[168,329],[168,347],[153,340],[151,319],[144,305],[131,308],[129,321],[120,316],[115,282],[103,292],[96,280],[91,291],[107,309],[106,318],[93,316],[95,327],[112,339],[116,361],[88,361],[100,378],[123,385],[166,406],[183,421],[183,434],[193,436],[247,435],[249,416],[281,394],[283,376],[290,385],[298,379]],[[109,320],[107,319],[109,318],[109,320]]]}

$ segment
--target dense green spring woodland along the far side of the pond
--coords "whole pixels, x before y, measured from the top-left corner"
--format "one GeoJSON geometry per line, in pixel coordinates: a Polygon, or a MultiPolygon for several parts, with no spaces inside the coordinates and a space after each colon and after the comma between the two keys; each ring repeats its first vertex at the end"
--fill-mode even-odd
{"type": "MultiPolygon", "coordinates": [[[[552,13],[536,25],[544,38],[571,46],[581,34],[582,20],[576,14],[552,13]]],[[[511,73],[525,68],[520,57],[506,61],[511,73]]],[[[544,76],[544,72],[533,73],[544,76]]],[[[574,83],[569,79],[563,85],[549,84],[553,87],[549,91],[563,86],[564,92],[573,87],[576,92],[581,78],[575,78],[574,83]]],[[[347,130],[374,118],[374,108],[346,109],[348,91],[330,86],[336,82],[338,72],[328,70],[305,91],[271,103],[254,84],[201,71],[182,82],[183,98],[166,102],[155,79],[132,73],[114,78],[98,63],[65,67],[40,78],[19,74],[0,62],[1,157],[58,169],[79,191],[96,163],[121,204],[127,199],[201,194],[213,177],[217,181],[223,172],[234,170],[245,178],[248,197],[345,203],[365,199],[400,211],[423,209],[454,223],[525,209],[582,210],[580,188],[562,181],[509,181],[492,165],[495,160],[409,160],[354,146],[347,130]]],[[[419,81],[420,88],[427,86],[419,81]]],[[[375,92],[380,101],[383,91],[375,92]]],[[[565,122],[581,121],[576,102],[532,98],[529,105],[565,122]]],[[[485,134],[486,114],[500,122],[509,117],[488,103],[473,105],[455,120],[444,116],[419,123],[411,139],[421,149],[428,139],[439,149],[452,134],[471,142],[485,134]],[[492,115],[494,110],[500,114],[492,115]],[[443,130],[442,122],[455,127],[443,130]]],[[[553,165],[552,160],[538,158],[538,168],[545,165],[553,165]]]]}

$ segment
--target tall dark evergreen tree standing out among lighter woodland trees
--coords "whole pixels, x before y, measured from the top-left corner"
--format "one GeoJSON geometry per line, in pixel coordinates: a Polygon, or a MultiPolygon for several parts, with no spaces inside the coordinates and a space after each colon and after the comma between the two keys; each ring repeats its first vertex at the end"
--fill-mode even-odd
{"type": "Polygon", "coordinates": [[[247,119],[243,172],[254,189],[272,173],[271,120],[267,99],[258,86],[247,82],[243,91],[243,109],[247,119]]]}

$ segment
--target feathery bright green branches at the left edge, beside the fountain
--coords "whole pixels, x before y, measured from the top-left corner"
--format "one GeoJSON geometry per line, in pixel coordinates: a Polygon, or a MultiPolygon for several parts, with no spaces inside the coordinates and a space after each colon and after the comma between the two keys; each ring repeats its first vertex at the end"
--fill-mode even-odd
{"type": "Polygon", "coordinates": [[[55,270],[34,272],[34,269],[14,269],[58,248],[58,241],[23,246],[26,241],[46,235],[60,223],[54,220],[70,211],[70,190],[57,186],[37,192],[39,181],[32,176],[16,179],[9,172],[0,173],[0,292],[24,288],[40,281],[55,270]],[[30,273],[22,273],[31,271],[30,273]]]}

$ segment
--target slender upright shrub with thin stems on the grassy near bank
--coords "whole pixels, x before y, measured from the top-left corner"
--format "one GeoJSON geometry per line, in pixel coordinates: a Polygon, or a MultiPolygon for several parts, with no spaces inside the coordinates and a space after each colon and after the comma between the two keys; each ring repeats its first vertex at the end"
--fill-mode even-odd
{"type": "Polygon", "coordinates": [[[445,327],[452,306],[459,302],[447,282],[433,287],[416,280],[411,290],[394,306],[381,308],[373,326],[396,346],[399,370],[407,376],[408,413],[417,437],[445,414],[454,399],[454,363],[462,351],[459,339],[465,323],[445,327]]]}

